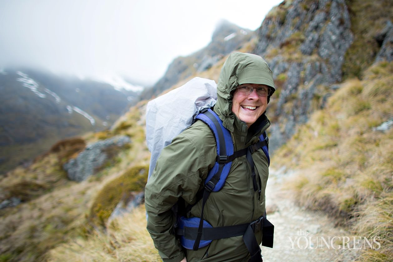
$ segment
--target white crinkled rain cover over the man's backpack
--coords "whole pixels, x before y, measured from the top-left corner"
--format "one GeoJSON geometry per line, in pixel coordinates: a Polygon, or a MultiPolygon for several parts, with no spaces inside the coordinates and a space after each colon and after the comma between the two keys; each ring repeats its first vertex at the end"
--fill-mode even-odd
{"type": "Polygon", "coordinates": [[[147,103],[146,142],[151,152],[150,178],[161,150],[189,127],[204,108],[215,105],[217,84],[214,80],[195,77],[147,103]]]}

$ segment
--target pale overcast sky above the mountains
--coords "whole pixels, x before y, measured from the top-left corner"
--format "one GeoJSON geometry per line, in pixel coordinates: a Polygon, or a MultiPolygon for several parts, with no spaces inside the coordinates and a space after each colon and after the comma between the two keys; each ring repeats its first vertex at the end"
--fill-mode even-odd
{"type": "Polygon", "coordinates": [[[0,70],[27,65],[153,84],[226,19],[256,30],[282,0],[0,0],[0,70]]]}

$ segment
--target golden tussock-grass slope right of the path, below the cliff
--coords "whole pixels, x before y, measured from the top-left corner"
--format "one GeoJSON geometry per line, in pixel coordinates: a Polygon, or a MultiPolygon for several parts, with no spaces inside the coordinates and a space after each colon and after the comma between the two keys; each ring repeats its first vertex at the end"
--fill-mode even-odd
{"type": "Polygon", "coordinates": [[[349,79],[326,108],[274,156],[275,167],[298,169],[287,187],[299,205],[331,214],[359,236],[379,237],[381,248],[359,261],[393,259],[393,62],[349,79]]]}

